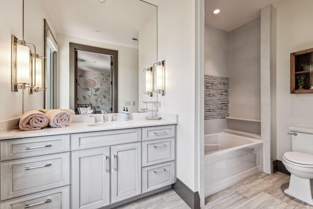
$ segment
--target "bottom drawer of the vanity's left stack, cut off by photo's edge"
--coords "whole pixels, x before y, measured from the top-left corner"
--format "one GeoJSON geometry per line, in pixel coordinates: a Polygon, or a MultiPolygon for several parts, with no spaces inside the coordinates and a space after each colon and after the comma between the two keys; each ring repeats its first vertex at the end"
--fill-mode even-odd
{"type": "Polygon", "coordinates": [[[0,209],[69,209],[69,186],[2,202],[0,209]]]}

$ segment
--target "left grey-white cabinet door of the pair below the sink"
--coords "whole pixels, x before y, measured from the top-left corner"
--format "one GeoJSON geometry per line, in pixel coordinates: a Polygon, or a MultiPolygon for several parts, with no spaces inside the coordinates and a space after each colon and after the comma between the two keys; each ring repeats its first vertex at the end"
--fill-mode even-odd
{"type": "Polygon", "coordinates": [[[72,152],[72,209],[110,204],[110,147],[72,152]]]}

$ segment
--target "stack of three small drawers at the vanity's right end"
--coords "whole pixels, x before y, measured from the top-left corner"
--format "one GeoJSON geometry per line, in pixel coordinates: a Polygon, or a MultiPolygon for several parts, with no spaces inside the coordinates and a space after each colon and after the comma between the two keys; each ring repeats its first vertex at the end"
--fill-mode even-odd
{"type": "Polygon", "coordinates": [[[175,126],[142,128],[142,193],[175,183],[175,126]]]}

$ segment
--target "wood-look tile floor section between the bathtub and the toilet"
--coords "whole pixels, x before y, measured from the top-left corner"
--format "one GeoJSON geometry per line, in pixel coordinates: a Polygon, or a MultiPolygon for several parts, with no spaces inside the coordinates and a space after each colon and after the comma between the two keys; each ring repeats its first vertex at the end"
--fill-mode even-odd
{"type": "Polygon", "coordinates": [[[259,173],[205,198],[203,209],[313,209],[284,193],[290,176],[259,173]]]}

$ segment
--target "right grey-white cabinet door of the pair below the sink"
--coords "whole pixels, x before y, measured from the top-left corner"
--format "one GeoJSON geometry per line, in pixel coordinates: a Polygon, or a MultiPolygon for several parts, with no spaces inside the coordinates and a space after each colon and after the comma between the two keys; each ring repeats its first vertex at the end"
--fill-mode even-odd
{"type": "Polygon", "coordinates": [[[111,203],[141,194],[141,143],[111,147],[111,203]]]}

